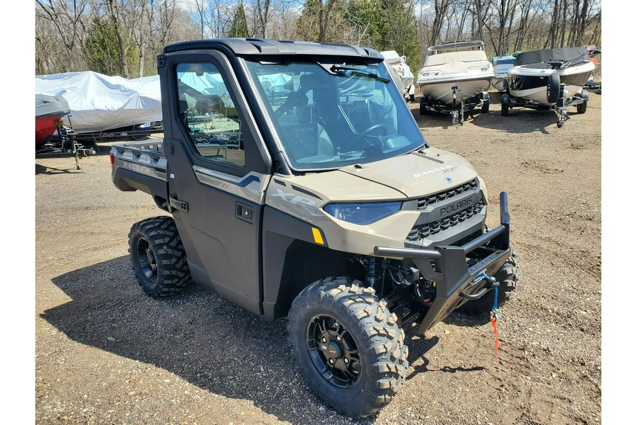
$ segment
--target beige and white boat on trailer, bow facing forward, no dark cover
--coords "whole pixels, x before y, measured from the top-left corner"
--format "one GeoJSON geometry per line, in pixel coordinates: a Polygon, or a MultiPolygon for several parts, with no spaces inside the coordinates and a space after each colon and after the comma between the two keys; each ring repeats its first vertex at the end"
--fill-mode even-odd
{"type": "Polygon", "coordinates": [[[489,110],[487,90],[495,77],[493,64],[481,40],[449,42],[427,48],[425,64],[416,84],[420,115],[427,111],[452,113],[454,124],[464,121],[464,111],[489,110]]]}

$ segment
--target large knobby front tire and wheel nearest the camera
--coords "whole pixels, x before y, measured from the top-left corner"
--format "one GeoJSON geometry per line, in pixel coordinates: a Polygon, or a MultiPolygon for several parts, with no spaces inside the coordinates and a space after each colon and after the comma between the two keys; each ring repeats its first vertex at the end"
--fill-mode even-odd
{"type": "Polygon", "coordinates": [[[388,404],[408,368],[405,333],[372,288],[327,278],[292,303],[287,330],[309,387],[347,416],[367,416],[388,404]]]}

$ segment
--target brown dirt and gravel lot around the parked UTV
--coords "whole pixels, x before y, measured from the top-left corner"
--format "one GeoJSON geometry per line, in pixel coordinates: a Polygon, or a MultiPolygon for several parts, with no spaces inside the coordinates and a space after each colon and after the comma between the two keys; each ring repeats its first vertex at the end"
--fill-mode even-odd
{"type": "Polygon", "coordinates": [[[408,331],[396,399],[365,419],[304,387],[285,319],[265,322],[199,287],[153,300],[127,257],[131,225],[161,214],[110,180],[108,145],[35,160],[35,421],[38,424],[595,424],[601,420],[601,95],[585,115],[491,112],[460,127],[415,118],[430,145],[469,159],[490,217],[507,191],[520,283],[500,314],[454,313],[408,331]]]}

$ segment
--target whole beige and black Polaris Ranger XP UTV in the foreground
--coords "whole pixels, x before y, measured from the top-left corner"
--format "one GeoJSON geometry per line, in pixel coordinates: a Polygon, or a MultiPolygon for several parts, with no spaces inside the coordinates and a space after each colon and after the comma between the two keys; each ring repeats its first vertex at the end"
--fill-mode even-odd
{"type": "Polygon", "coordinates": [[[302,375],[338,412],[396,395],[402,325],[488,312],[486,293],[515,284],[506,194],[486,229],[484,182],[427,144],[375,50],[197,40],[158,68],[163,140],[110,152],[115,186],[168,213],[132,226],[139,284],[162,297],[196,282],[287,315],[302,375]]]}

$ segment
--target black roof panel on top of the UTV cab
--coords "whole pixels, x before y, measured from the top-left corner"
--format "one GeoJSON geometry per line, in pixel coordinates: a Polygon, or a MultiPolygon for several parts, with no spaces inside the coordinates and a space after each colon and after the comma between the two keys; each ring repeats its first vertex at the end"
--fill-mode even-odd
{"type": "Polygon", "coordinates": [[[294,40],[268,40],[265,38],[214,38],[178,42],[163,48],[163,53],[180,50],[211,49],[225,47],[235,55],[279,56],[279,55],[320,55],[369,57],[383,60],[379,52],[367,47],[345,44],[320,44],[318,42],[294,40]]]}

